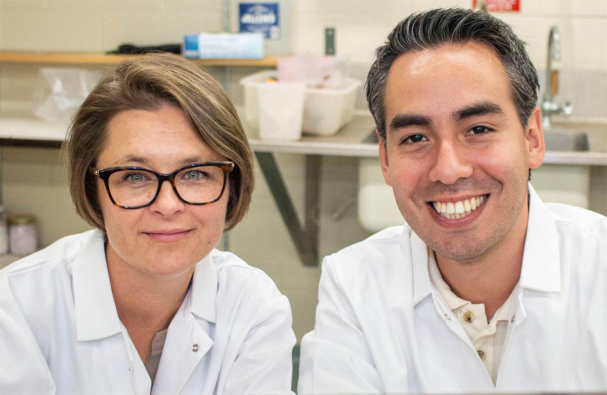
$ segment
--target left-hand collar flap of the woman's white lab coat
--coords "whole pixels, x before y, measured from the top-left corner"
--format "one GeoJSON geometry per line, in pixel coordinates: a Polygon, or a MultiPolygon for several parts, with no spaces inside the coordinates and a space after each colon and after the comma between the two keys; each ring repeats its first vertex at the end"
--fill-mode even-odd
{"type": "Polygon", "coordinates": [[[122,331],[107,273],[103,232],[89,231],[73,262],[73,294],[78,341],[104,339],[122,331]]]}

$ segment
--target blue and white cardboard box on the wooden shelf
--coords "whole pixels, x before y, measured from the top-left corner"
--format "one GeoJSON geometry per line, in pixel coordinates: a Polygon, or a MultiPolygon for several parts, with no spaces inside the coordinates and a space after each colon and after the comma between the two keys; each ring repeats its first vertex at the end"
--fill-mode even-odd
{"type": "Polygon", "coordinates": [[[200,33],[183,37],[184,58],[261,59],[262,33],[200,33]]]}

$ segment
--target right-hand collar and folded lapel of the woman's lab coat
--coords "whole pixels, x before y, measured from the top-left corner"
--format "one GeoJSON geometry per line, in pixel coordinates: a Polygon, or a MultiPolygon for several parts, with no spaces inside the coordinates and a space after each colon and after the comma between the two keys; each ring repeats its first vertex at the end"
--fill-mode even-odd
{"type": "Polygon", "coordinates": [[[217,269],[209,256],[198,262],[192,286],[169,325],[152,394],[177,394],[191,377],[213,340],[217,269]]]}

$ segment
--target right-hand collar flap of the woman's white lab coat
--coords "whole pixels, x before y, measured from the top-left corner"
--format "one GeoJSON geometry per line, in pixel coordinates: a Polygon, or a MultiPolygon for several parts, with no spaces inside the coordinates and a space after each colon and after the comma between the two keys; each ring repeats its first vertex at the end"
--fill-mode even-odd
{"type": "Polygon", "coordinates": [[[215,323],[217,268],[211,257],[213,251],[196,264],[192,276],[192,294],[189,298],[188,311],[198,318],[215,323]]]}

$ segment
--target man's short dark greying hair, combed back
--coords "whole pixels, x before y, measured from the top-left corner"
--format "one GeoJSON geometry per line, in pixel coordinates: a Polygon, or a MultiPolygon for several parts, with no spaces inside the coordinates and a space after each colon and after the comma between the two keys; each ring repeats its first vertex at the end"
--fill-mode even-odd
{"type": "Polygon", "coordinates": [[[468,42],[486,44],[495,50],[508,74],[510,95],[517,107],[518,119],[523,128],[527,127],[540,85],[524,42],[509,25],[486,12],[437,8],[407,16],[388,35],[386,43],[375,51],[376,60],[369,70],[365,90],[375,127],[384,142],[385,84],[396,58],[444,44],[468,42]]]}

